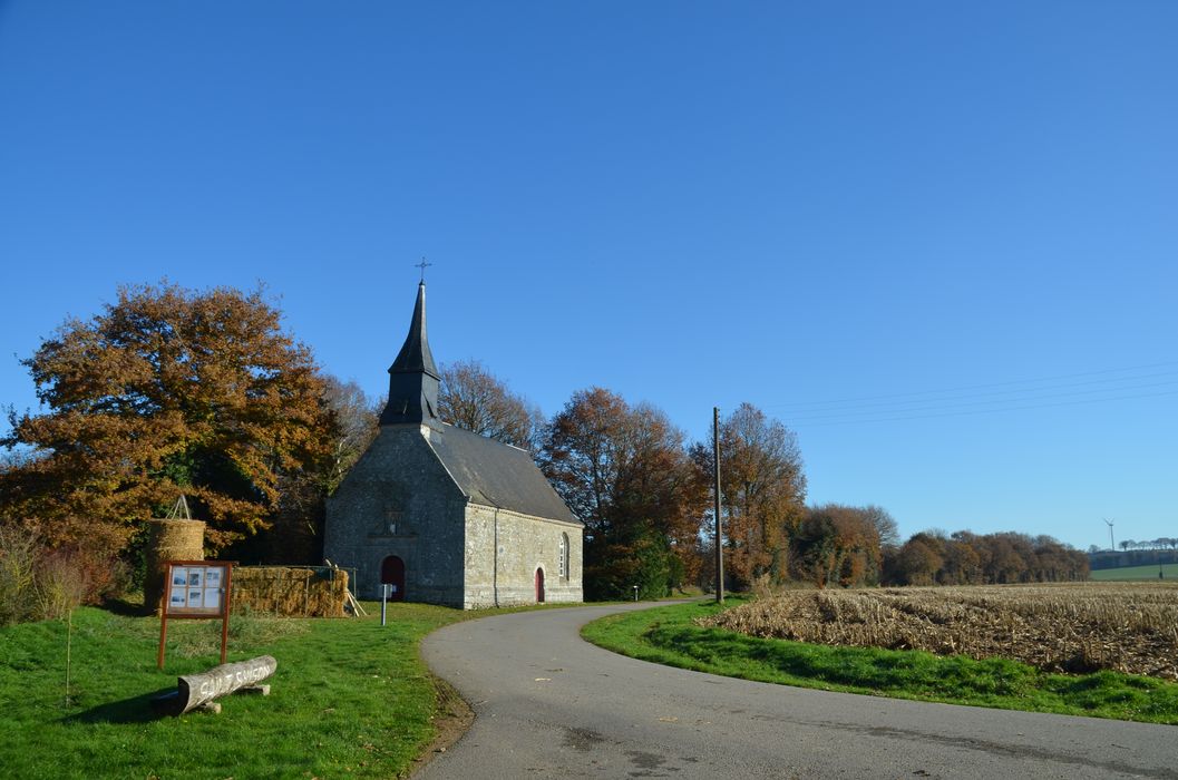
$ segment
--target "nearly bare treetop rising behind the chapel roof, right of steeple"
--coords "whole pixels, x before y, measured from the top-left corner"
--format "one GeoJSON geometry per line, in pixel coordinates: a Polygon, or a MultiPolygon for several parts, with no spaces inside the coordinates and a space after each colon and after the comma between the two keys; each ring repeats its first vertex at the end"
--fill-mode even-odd
{"type": "Polygon", "coordinates": [[[525,450],[536,449],[543,425],[540,409],[516,395],[477,361],[442,366],[438,390],[442,422],[525,450]]]}

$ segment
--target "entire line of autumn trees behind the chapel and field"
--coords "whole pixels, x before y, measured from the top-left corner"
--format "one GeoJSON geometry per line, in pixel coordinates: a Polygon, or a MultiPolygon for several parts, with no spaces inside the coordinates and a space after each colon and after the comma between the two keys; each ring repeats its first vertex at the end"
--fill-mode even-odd
{"type": "MultiPolygon", "coordinates": [[[[22,363],[41,410],[8,410],[0,523],[68,550],[91,594],[137,569],[143,521],[181,493],[209,522],[210,551],[318,562],[325,500],[377,434],[382,399],[323,371],[260,289],[123,287],[22,363]]],[[[442,418],[530,450],[584,522],[587,597],[712,582],[710,437],[688,441],[659,408],[603,388],[545,418],[477,362],[442,374],[442,418]]],[[[1047,537],[927,533],[900,544],[880,507],[807,505],[795,435],[752,404],[722,418],[720,449],[728,588],[1086,575],[1047,537]]]]}

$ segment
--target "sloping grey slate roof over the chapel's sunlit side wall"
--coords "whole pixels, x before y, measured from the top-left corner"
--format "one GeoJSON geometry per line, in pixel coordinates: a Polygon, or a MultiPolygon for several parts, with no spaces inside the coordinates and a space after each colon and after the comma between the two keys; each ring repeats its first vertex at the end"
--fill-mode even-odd
{"type": "Polygon", "coordinates": [[[476,503],[581,524],[527,451],[454,425],[431,430],[429,443],[476,503]]]}

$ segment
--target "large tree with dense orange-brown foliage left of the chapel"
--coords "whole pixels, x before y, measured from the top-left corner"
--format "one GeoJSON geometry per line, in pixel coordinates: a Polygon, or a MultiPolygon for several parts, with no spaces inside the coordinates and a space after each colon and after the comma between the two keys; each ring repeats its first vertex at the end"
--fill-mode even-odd
{"type": "Polygon", "coordinates": [[[0,513],[51,537],[127,533],[184,493],[218,548],[264,528],[282,481],[330,456],[311,351],[260,289],[123,287],[22,363],[45,411],[9,410],[0,444],[29,457],[0,474],[0,513]]]}

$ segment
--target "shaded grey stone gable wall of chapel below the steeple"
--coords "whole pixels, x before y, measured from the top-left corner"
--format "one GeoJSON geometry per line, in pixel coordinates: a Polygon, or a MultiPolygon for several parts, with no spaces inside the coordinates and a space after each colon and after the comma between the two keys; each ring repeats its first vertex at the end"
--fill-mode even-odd
{"type": "Polygon", "coordinates": [[[352,593],[380,597],[380,563],[405,562],[405,597],[464,606],[466,500],[421,428],[386,425],[327,501],[324,556],[357,569],[352,593]]]}

